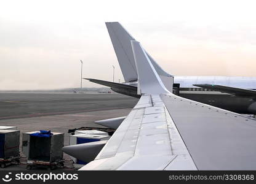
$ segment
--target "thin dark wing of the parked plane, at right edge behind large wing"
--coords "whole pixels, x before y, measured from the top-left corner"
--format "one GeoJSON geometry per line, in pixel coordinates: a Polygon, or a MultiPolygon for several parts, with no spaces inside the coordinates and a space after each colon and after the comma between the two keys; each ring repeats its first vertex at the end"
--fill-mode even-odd
{"type": "Polygon", "coordinates": [[[242,88],[233,88],[230,86],[223,86],[223,85],[211,85],[211,84],[196,84],[193,86],[198,86],[207,90],[213,90],[213,91],[220,91],[223,93],[230,93],[237,96],[246,96],[246,97],[256,97],[256,91],[255,90],[247,90],[242,88]]]}

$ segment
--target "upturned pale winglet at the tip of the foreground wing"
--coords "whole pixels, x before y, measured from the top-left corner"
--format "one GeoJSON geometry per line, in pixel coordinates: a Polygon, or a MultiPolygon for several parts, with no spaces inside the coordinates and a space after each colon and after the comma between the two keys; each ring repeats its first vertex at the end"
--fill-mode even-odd
{"type": "Polygon", "coordinates": [[[162,83],[140,42],[132,40],[131,44],[138,73],[138,94],[170,93],[162,83]]]}

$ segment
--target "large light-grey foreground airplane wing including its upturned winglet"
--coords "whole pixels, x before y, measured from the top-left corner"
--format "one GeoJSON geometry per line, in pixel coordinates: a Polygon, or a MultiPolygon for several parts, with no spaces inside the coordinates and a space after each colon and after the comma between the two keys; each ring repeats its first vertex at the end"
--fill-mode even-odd
{"type": "Polygon", "coordinates": [[[256,121],[170,93],[137,41],[142,97],[80,170],[256,169],[256,121]]]}

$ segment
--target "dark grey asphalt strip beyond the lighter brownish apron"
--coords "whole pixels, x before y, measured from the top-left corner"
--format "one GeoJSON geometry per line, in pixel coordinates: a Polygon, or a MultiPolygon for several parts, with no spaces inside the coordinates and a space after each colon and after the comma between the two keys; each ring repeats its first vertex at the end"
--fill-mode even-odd
{"type": "Polygon", "coordinates": [[[0,93],[0,120],[132,108],[137,101],[121,94],[0,93]]]}

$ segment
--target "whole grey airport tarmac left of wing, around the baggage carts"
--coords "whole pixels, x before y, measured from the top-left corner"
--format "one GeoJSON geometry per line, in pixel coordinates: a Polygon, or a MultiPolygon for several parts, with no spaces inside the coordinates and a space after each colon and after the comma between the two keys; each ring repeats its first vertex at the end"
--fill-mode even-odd
{"type": "MultiPolygon", "coordinates": [[[[136,98],[121,94],[0,93],[0,126],[17,126],[20,140],[23,132],[41,129],[64,132],[64,145],[68,145],[68,129],[82,126],[103,127],[94,121],[126,116],[137,101],[136,98]]],[[[22,141],[22,152],[21,145],[22,141]]],[[[74,170],[70,156],[64,154],[64,159],[64,170],[74,170]]],[[[26,170],[23,153],[20,161],[22,164],[0,168],[0,171],[26,170]]]]}

